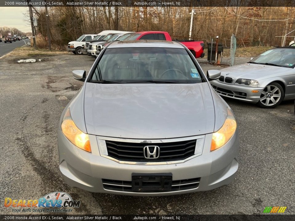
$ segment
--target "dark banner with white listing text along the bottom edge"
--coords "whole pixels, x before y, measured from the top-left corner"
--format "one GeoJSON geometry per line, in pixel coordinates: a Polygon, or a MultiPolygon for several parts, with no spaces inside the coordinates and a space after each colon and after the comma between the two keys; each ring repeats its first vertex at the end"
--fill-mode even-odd
{"type": "Polygon", "coordinates": [[[92,220],[92,221],[293,221],[295,215],[0,215],[0,220],[92,220]]]}

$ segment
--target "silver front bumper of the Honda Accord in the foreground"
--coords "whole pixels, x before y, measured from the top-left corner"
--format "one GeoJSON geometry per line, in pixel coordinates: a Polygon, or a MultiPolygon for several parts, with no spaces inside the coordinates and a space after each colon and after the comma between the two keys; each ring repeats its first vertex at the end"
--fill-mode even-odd
{"type": "MultiPolygon", "coordinates": [[[[59,167],[64,181],[72,187],[90,192],[120,194],[129,196],[164,196],[208,191],[230,184],[238,170],[239,138],[238,129],[233,137],[221,148],[210,152],[212,134],[204,138],[203,152],[187,161],[173,164],[120,163],[101,156],[97,139],[89,135],[92,153],[74,146],[61,130],[58,130],[59,167]],[[120,181],[132,180],[132,174],[172,174],[172,180],[198,178],[197,188],[170,192],[125,192],[105,188],[102,179],[120,181]]],[[[169,163],[169,162],[167,162],[169,163]]]]}

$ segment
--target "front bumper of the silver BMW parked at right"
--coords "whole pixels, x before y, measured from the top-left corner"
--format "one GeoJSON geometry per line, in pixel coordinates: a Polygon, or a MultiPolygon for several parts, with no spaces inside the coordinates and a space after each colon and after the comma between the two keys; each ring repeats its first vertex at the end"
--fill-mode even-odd
{"type": "Polygon", "coordinates": [[[264,87],[247,87],[221,83],[217,80],[210,81],[217,94],[250,103],[257,103],[264,87]],[[258,91],[258,92],[252,92],[258,91]]]}

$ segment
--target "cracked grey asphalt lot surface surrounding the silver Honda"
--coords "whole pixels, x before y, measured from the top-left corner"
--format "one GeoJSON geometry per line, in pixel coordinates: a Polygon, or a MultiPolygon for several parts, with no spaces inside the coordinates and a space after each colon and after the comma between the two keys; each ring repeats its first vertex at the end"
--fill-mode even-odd
{"type": "MultiPolygon", "coordinates": [[[[262,214],[266,206],[286,206],[285,214],[295,214],[294,101],[262,109],[226,99],[240,131],[239,170],[227,186],[161,197],[69,187],[58,167],[57,125],[82,85],[71,71],[88,72],[94,59],[73,54],[46,58],[32,64],[17,64],[11,56],[0,59],[0,214],[26,214],[4,207],[5,197],[38,199],[55,191],[81,201],[69,214],[262,214]]],[[[221,68],[201,65],[205,71],[221,68]]]]}

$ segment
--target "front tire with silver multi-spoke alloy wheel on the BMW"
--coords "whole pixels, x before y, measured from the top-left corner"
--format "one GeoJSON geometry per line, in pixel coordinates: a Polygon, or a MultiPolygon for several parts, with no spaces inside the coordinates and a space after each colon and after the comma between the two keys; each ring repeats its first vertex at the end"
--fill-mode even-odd
{"type": "Polygon", "coordinates": [[[279,83],[270,83],[263,89],[257,105],[262,108],[277,107],[284,99],[284,95],[284,89],[279,83]]]}

